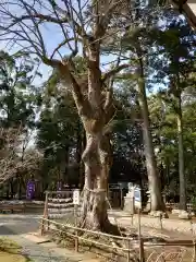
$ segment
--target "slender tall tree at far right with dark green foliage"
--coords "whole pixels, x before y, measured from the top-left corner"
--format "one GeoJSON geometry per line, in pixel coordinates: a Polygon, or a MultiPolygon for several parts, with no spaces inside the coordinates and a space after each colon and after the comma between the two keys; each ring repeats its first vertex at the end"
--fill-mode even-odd
{"type": "Polygon", "coordinates": [[[183,96],[187,87],[195,83],[191,78],[191,72],[195,71],[193,47],[194,34],[189,26],[180,20],[169,23],[164,32],[160,32],[159,44],[163,47],[162,61],[152,63],[157,68],[157,79],[159,82],[168,79],[168,88],[162,92],[162,98],[172,107],[175,114],[177,136],[179,136],[179,176],[180,176],[180,209],[186,210],[186,182],[185,182],[185,160],[183,140],[183,96]],[[161,64],[161,66],[160,66],[161,64]],[[159,70],[160,69],[160,70],[159,70]]]}

